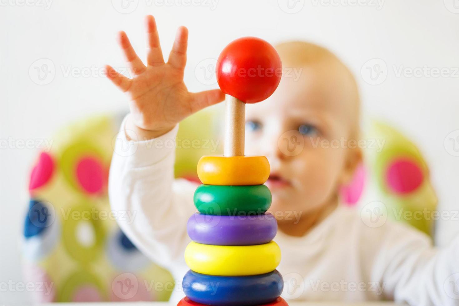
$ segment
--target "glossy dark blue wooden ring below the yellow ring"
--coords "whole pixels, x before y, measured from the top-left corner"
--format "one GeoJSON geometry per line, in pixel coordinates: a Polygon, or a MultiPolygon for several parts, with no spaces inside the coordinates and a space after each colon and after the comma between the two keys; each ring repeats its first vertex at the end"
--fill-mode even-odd
{"type": "Polygon", "coordinates": [[[263,305],[277,299],[284,281],[277,270],[250,276],[215,276],[189,270],[182,283],[185,295],[213,306],[263,305]]]}

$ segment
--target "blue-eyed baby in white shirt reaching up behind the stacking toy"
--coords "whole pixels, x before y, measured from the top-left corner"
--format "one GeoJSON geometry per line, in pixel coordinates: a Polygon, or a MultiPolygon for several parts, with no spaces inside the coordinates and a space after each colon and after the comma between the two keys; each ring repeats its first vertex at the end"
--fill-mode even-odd
{"type": "MultiPolygon", "coordinates": [[[[129,142],[130,151],[113,155],[109,194],[113,210],[136,212],[134,222],[118,223],[141,251],[171,271],[178,283],[171,297],[176,303],[184,296],[179,283],[188,270],[186,223],[196,211],[196,184],[174,180],[173,146],[154,143],[173,141],[182,119],[224,100],[224,94],[186,89],[186,28],[179,28],[165,62],[154,18],[147,16],[146,24],[146,65],[126,34],[119,35],[134,78],[106,67],[107,77],[128,95],[130,107],[116,144],[126,148],[129,142]]],[[[457,240],[437,250],[413,228],[389,221],[372,228],[358,211],[339,205],[339,187],[352,177],[362,153],[347,145],[321,144],[358,139],[359,97],[352,74],[330,51],[313,44],[289,42],[276,50],[283,67],[296,73],[283,76],[269,99],[247,105],[246,152],[267,156],[271,165],[266,185],[273,196],[269,211],[278,220],[274,241],[282,250],[277,268],[285,280],[282,296],[295,301],[456,304],[453,298],[459,296],[448,291],[448,280],[454,290],[457,240]]]]}

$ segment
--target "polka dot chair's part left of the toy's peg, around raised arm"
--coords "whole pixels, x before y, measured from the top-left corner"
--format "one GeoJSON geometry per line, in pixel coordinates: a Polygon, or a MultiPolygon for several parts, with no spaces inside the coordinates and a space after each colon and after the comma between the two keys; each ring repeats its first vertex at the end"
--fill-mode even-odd
{"type": "MultiPolygon", "coordinates": [[[[211,139],[206,131],[215,129],[196,123],[212,124],[215,117],[200,112],[188,118],[178,139],[189,136],[190,126],[211,139]]],[[[140,253],[116,223],[133,216],[110,210],[107,178],[120,123],[121,117],[99,116],[72,124],[38,156],[23,249],[26,278],[44,284],[34,302],[168,300],[172,293],[170,273],[140,253]]],[[[210,151],[182,147],[175,172],[196,179],[197,160],[210,151]]]]}

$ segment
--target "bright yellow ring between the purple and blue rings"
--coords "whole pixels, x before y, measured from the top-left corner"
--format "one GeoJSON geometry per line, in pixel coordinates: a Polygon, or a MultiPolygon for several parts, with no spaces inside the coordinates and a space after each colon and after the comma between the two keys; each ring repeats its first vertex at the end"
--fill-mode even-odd
{"type": "Polygon", "coordinates": [[[270,241],[263,245],[203,245],[191,241],[185,249],[191,270],[208,275],[246,276],[274,271],[280,249],[270,241]]]}

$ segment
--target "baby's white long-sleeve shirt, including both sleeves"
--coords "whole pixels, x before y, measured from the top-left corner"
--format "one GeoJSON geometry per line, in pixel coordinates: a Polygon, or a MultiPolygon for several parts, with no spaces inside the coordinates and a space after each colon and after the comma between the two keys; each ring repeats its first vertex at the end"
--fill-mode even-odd
{"type": "MultiPolygon", "coordinates": [[[[167,268],[177,282],[171,296],[184,293],[188,270],[184,251],[188,218],[196,212],[197,187],[174,179],[174,139],[178,127],[157,139],[126,139],[124,122],[115,144],[109,178],[112,210],[123,232],[142,252],[167,268]]],[[[434,248],[425,234],[401,223],[372,219],[339,206],[302,237],[278,232],[287,300],[396,300],[410,305],[459,305],[459,239],[434,248]]],[[[381,217],[381,216],[380,216],[381,217]]]]}

